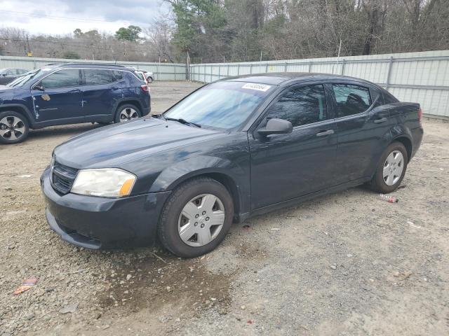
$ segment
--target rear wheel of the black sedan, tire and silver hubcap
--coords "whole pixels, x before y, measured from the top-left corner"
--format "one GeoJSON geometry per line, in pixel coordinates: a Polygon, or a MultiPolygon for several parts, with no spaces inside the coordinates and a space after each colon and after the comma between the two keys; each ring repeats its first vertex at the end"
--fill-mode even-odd
{"type": "Polygon", "coordinates": [[[370,182],[370,188],[382,194],[388,194],[396,190],[406,175],[407,163],[406,147],[397,141],[391,143],[380,158],[373,180],[370,182]],[[391,162],[396,162],[396,164],[391,164],[391,162]]]}

